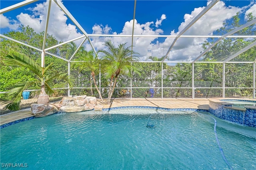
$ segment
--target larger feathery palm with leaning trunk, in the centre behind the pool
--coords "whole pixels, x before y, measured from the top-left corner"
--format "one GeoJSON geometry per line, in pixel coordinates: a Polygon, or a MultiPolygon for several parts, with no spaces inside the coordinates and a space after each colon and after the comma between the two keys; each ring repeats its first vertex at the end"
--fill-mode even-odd
{"type": "Polygon", "coordinates": [[[120,43],[118,47],[110,41],[106,41],[104,45],[107,49],[101,49],[98,52],[104,53],[103,62],[107,64],[105,67],[105,76],[110,78],[110,86],[108,91],[108,101],[110,103],[112,94],[116,87],[117,79],[120,74],[131,76],[131,71],[134,73],[139,73],[139,69],[137,67],[132,66],[132,61],[137,61],[138,57],[133,56],[134,51],[132,51],[129,47],[126,47],[126,43],[120,43]]]}

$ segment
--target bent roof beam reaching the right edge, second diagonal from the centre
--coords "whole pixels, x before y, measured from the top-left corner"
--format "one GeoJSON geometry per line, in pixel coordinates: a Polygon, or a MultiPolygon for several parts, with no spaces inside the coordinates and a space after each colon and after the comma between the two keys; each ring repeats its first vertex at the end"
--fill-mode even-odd
{"type": "Polygon", "coordinates": [[[212,47],[214,47],[214,45],[216,45],[218,42],[220,42],[220,40],[222,40],[223,38],[226,38],[227,36],[230,36],[230,35],[238,32],[238,31],[240,31],[240,30],[242,30],[242,29],[244,29],[244,28],[246,28],[246,27],[248,27],[252,24],[255,24],[255,22],[256,22],[256,19],[251,20],[250,22],[247,22],[246,24],[244,24],[244,25],[242,25],[242,26],[224,34],[218,40],[216,40],[214,43],[212,43],[212,45],[210,45],[206,50],[204,50],[196,59],[194,59],[193,63],[196,62],[198,59],[200,59],[205,53],[207,53],[212,47]]]}

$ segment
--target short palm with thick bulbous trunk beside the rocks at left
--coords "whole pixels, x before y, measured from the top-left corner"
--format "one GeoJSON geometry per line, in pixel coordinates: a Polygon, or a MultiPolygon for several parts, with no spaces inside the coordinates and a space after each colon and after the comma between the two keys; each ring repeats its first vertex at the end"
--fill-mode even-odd
{"type": "Polygon", "coordinates": [[[19,110],[22,92],[28,89],[28,87],[40,87],[41,92],[37,103],[47,104],[49,103],[49,97],[47,94],[53,93],[51,87],[54,79],[62,79],[66,81],[70,87],[74,85],[74,79],[70,77],[68,73],[58,73],[55,71],[52,74],[47,74],[52,68],[53,63],[50,63],[47,67],[40,67],[27,55],[17,52],[12,53],[12,55],[7,55],[4,57],[3,61],[9,65],[28,68],[36,75],[34,80],[20,82],[14,85],[14,88],[7,93],[8,97],[11,98],[11,101],[8,101],[8,105],[6,105],[5,109],[9,109],[11,111],[19,110]]]}

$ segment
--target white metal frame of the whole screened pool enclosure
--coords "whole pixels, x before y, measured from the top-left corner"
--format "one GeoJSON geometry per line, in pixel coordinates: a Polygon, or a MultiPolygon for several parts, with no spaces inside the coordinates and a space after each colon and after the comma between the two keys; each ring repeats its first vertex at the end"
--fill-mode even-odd
{"type": "MultiPolygon", "coordinates": [[[[11,10],[14,10],[16,8],[20,8],[22,6],[26,6],[28,4],[31,4],[33,2],[36,2],[38,0],[25,0],[23,2],[19,2],[17,4],[14,4],[12,6],[9,6],[7,8],[4,8],[4,9],[1,9],[0,10],[0,14],[4,14],[5,12],[8,12],[8,11],[11,11],[11,10]]],[[[90,37],[93,37],[93,36],[98,36],[98,37],[102,37],[102,36],[105,36],[105,37],[131,37],[131,41],[132,41],[132,46],[133,46],[133,38],[134,37],[156,37],[156,38],[159,38],[159,37],[172,37],[174,38],[174,41],[172,42],[172,44],[170,45],[167,53],[164,55],[164,58],[162,61],[154,61],[154,62],[157,62],[157,63],[161,63],[162,65],[162,76],[161,76],[161,86],[162,87],[157,87],[158,89],[161,88],[161,98],[163,99],[163,63],[192,63],[192,87],[188,88],[186,87],[186,89],[192,89],[192,99],[195,98],[195,89],[197,87],[194,87],[194,64],[195,63],[222,63],[222,88],[220,87],[200,87],[200,89],[203,89],[203,88],[206,88],[206,89],[222,89],[222,97],[224,98],[225,97],[225,89],[232,89],[232,87],[225,87],[225,64],[226,63],[252,63],[253,64],[253,85],[252,87],[240,87],[240,89],[252,89],[252,97],[255,99],[255,91],[256,91],[256,85],[255,85],[255,77],[256,77],[256,73],[255,73],[255,67],[256,67],[256,58],[254,61],[245,61],[245,62],[232,62],[230,61],[231,59],[233,59],[234,57],[237,57],[238,55],[240,55],[241,53],[243,53],[244,51],[247,51],[248,49],[254,47],[256,45],[256,42],[248,45],[247,47],[245,47],[244,49],[238,51],[237,53],[235,53],[234,55],[228,57],[228,59],[226,59],[225,61],[212,61],[212,62],[209,62],[209,61],[198,61],[198,59],[200,59],[200,57],[202,57],[207,51],[209,51],[214,45],[216,45],[220,40],[222,40],[223,38],[256,38],[256,36],[230,36],[232,34],[234,34],[235,32],[238,32],[239,30],[242,30],[243,28],[246,28],[252,24],[255,24],[256,23],[256,19],[254,18],[254,20],[250,21],[250,22],[247,22],[246,24],[240,26],[239,28],[236,28],[222,36],[184,36],[182,34],[184,34],[186,32],[186,30],[188,30],[194,23],[196,23],[197,20],[199,20],[206,12],[208,12],[208,10],[210,10],[218,1],[220,0],[214,0],[212,2],[210,2],[206,8],[204,8],[177,36],[171,36],[171,35],[134,35],[134,20],[135,20],[135,11],[136,11],[136,0],[134,0],[134,17],[133,17],[133,27],[132,27],[132,35],[106,35],[106,34],[87,34],[87,32],[84,30],[84,28],[82,28],[82,26],[76,21],[76,19],[72,16],[72,14],[67,10],[67,8],[62,4],[62,2],[60,2],[60,0],[50,0],[51,3],[48,4],[48,12],[47,12],[47,20],[46,20],[46,26],[45,26],[45,30],[44,30],[44,42],[43,42],[43,47],[42,49],[39,49],[37,47],[33,47],[31,45],[28,45],[26,43],[23,43],[23,42],[20,42],[20,41],[17,41],[17,40],[14,40],[12,38],[9,38],[7,36],[4,36],[2,34],[0,34],[0,37],[1,38],[6,38],[8,40],[12,40],[14,42],[17,42],[17,43],[20,43],[22,45],[26,45],[28,47],[31,47],[33,49],[36,49],[38,51],[41,52],[41,66],[44,67],[44,56],[45,54],[48,54],[48,55],[52,55],[54,57],[57,57],[59,59],[62,59],[64,61],[67,61],[68,62],[68,75],[70,75],[70,63],[71,62],[74,62],[72,61],[72,58],[74,57],[74,55],[77,53],[77,51],[80,49],[80,47],[83,45],[83,43],[88,40],[88,42],[90,43],[93,51],[96,53],[96,50],[95,50],[95,47],[92,43],[92,41],[90,40],[90,37]],[[46,36],[47,36],[47,30],[48,30],[48,22],[49,22],[49,16],[50,16],[50,10],[51,10],[51,5],[52,3],[55,2],[59,7],[60,9],[66,14],[66,16],[68,16],[68,18],[70,20],[72,20],[72,22],[81,30],[81,32],[83,33],[82,36],[78,37],[78,38],[74,38],[72,40],[69,40],[69,41],[66,41],[66,42],[63,42],[63,43],[60,43],[58,45],[54,45],[52,47],[48,47],[48,48],[45,48],[45,43],[46,43],[46,36]],[[210,45],[205,51],[203,51],[194,61],[165,61],[166,57],[168,57],[168,54],[170,53],[172,47],[174,46],[175,42],[178,40],[178,38],[218,38],[218,40],[216,40],[212,45],[210,45]],[[70,43],[70,42],[73,42],[75,40],[79,40],[79,39],[82,39],[84,38],[84,40],[82,41],[82,43],[78,46],[78,48],[76,49],[76,51],[74,52],[74,54],[70,57],[70,59],[64,59],[58,55],[54,55],[52,53],[49,53],[48,50],[52,49],[52,48],[55,48],[55,47],[58,47],[60,45],[64,45],[66,43],[70,43]]],[[[153,61],[139,61],[139,62],[150,62],[152,63],[153,61]]],[[[101,87],[101,73],[99,75],[99,87],[100,89],[101,88],[107,88],[107,87],[101,87]]],[[[88,89],[89,87],[83,87],[84,89],[88,89]]],[[[116,87],[118,88],[118,87],[116,87]]],[[[123,87],[120,87],[121,89],[123,89],[123,87]]],[[[148,87],[141,87],[141,88],[148,88],[148,87]]],[[[169,89],[172,88],[172,87],[168,87],[169,89]]],[[[177,89],[178,87],[173,87],[173,89],[177,89]]],[[[235,89],[239,89],[239,87],[233,87],[235,89]]],[[[70,87],[68,88],[62,88],[62,89],[68,89],[68,95],[70,95],[70,87]]],[[[76,89],[76,87],[74,87],[73,89],[76,89]]],[[[130,98],[132,98],[132,79],[130,79],[130,89],[131,89],[131,93],[130,93],[130,98]]]]}

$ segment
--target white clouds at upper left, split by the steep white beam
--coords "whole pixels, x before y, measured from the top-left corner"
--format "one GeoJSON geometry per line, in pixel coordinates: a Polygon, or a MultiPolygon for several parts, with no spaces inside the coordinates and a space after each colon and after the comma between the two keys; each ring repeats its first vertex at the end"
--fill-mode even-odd
{"type": "MultiPolygon", "coordinates": [[[[20,13],[16,16],[16,22],[24,26],[30,26],[37,33],[44,31],[46,25],[48,3],[49,1],[46,1],[40,4],[36,4],[34,8],[28,8],[27,10],[30,11],[29,14],[20,13]]],[[[1,27],[2,18],[3,17],[1,15],[1,27]]],[[[78,32],[75,25],[66,24],[67,20],[68,18],[64,12],[60,10],[60,8],[55,3],[52,3],[48,23],[48,34],[54,35],[58,41],[63,42],[82,36],[82,34],[78,32]]],[[[9,23],[9,27],[11,28],[12,24],[10,23],[10,20],[7,20],[6,22],[9,23]]],[[[81,41],[82,40],[77,42],[81,41]]]]}

